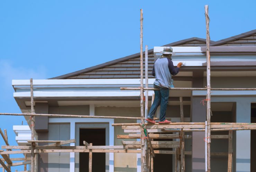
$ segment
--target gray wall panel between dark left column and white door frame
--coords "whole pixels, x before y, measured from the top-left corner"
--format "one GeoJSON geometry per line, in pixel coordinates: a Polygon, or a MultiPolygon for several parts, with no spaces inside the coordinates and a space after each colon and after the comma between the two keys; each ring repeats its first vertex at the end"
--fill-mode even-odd
{"type": "MultiPolygon", "coordinates": [[[[69,140],[69,123],[49,123],[49,140],[69,140]]],[[[65,144],[64,146],[70,146],[65,144]]],[[[69,172],[70,153],[48,153],[48,172],[69,172]]]]}

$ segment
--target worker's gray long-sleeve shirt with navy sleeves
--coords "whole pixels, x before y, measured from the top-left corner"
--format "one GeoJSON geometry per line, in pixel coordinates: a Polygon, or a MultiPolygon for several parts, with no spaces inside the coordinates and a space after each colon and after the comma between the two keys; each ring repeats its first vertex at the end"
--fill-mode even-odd
{"type": "Polygon", "coordinates": [[[163,87],[171,87],[172,75],[177,75],[180,68],[174,67],[171,59],[167,57],[159,57],[153,66],[152,75],[155,76],[154,84],[163,87]]]}

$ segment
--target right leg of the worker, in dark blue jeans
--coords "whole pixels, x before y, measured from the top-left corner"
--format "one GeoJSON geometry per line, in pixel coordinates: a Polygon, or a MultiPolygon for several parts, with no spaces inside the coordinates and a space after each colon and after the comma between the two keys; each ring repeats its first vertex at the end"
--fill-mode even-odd
{"type": "Polygon", "coordinates": [[[160,108],[160,119],[159,121],[165,120],[166,109],[168,105],[169,98],[169,89],[168,88],[160,88],[161,93],[161,108],[160,108]]]}

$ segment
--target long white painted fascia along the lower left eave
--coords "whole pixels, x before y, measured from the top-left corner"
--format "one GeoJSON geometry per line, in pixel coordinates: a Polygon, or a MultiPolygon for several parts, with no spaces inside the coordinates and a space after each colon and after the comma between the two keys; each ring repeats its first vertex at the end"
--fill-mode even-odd
{"type": "MultiPolygon", "coordinates": [[[[145,80],[145,79],[144,79],[145,80]]],[[[153,87],[154,78],[149,79],[153,87]]],[[[144,81],[145,83],[145,81],[144,81]]],[[[12,80],[16,98],[30,97],[30,80],[12,80]]],[[[140,79],[35,79],[34,97],[135,97],[139,90],[120,87],[140,87],[140,79]]],[[[149,93],[152,96],[153,92],[149,93]]]]}

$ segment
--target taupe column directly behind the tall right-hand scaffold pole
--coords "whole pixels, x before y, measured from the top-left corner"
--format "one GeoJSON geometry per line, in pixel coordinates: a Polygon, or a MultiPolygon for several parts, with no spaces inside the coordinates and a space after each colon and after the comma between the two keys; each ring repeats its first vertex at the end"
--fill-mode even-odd
{"type": "MultiPolygon", "coordinates": [[[[192,96],[191,98],[191,121],[205,122],[206,105],[201,101],[205,96],[192,96]]],[[[205,172],[204,132],[192,132],[192,172],[205,172]]]]}

